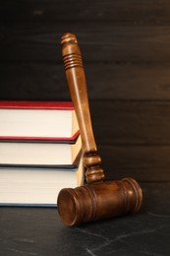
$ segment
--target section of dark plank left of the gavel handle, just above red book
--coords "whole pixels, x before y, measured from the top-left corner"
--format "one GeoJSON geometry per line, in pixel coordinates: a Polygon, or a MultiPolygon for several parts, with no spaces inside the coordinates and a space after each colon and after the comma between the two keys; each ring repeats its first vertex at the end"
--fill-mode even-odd
{"type": "Polygon", "coordinates": [[[1,99],[70,100],[62,62],[1,63],[1,99]]]}

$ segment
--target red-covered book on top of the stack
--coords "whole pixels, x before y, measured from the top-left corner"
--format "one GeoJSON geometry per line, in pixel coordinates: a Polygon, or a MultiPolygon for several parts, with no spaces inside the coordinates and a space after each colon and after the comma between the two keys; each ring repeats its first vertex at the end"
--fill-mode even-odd
{"type": "Polygon", "coordinates": [[[72,141],[78,135],[70,101],[0,101],[0,140],[72,141]]]}

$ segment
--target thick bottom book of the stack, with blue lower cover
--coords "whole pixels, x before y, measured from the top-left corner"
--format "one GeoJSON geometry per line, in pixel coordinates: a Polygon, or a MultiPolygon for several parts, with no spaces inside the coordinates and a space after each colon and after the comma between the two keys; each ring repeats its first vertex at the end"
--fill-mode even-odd
{"type": "Polygon", "coordinates": [[[56,207],[62,188],[83,183],[82,158],[78,168],[0,167],[0,206],[56,207]]]}

